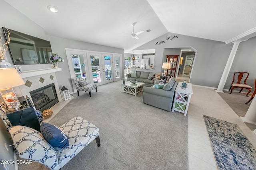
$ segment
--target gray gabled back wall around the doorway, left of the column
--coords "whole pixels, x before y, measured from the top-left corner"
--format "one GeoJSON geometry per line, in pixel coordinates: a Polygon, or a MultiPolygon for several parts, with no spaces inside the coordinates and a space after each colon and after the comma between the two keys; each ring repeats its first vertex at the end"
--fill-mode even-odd
{"type": "MultiPolygon", "coordinates": [[[[186,49],[193,47],[196,49],[195,64],[191,75],[190,82],[200,86],[218,87],[222,72],[230,55],[232,44],[225,44],[219,41],[190,37],[187,35],[179,35],[174,33],[166,33],[138,48],[140,49],[156,49],[155,66],[160,69],[162,63],[166,61],[165,49],[186,49]],[[179,38],[166,40],[169,36],[178,35],[179,38]],[[157,41],[166,40],[166,43],[155,45],[157,41]],[[158,62],[156,62],[158,61],[158,62]]],[[[180,55],[180,54],[177,54],[180,55]]]]}

